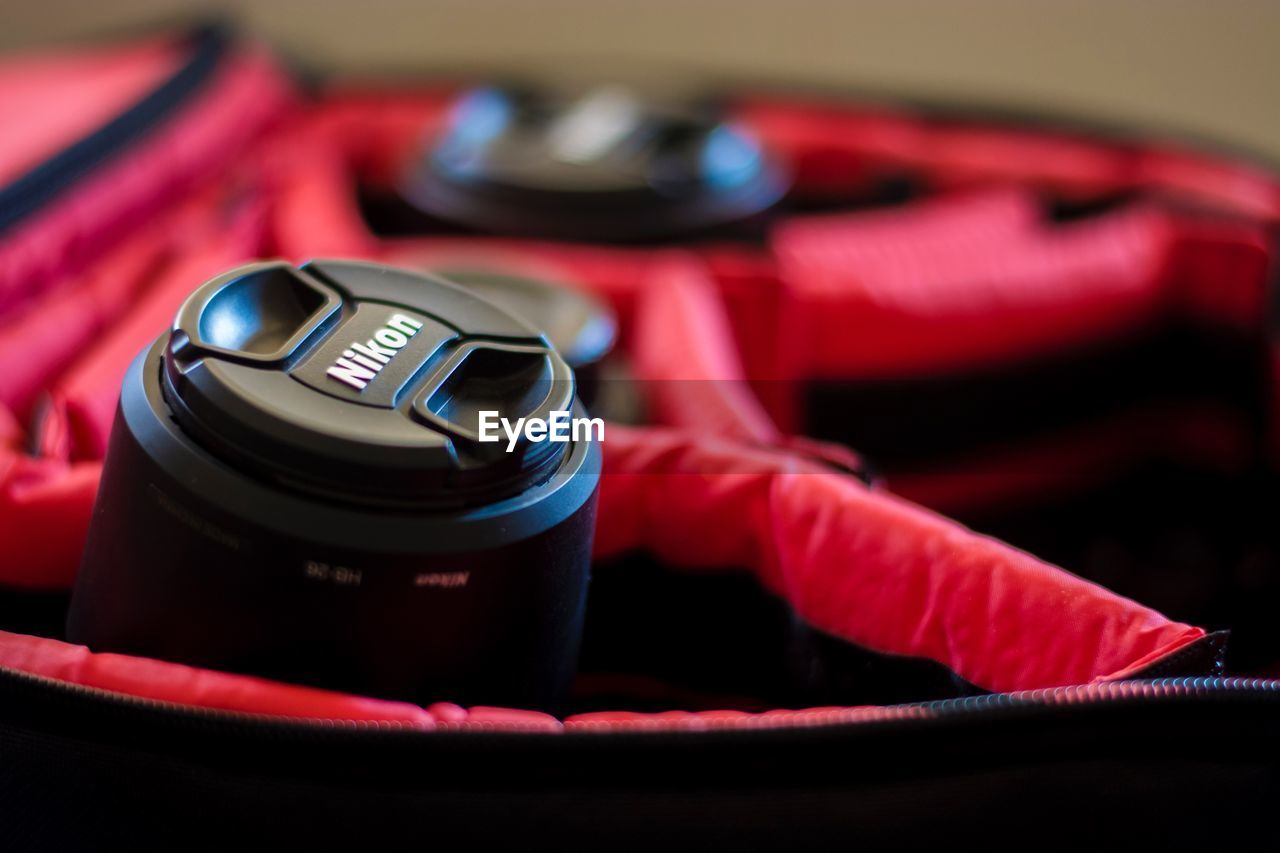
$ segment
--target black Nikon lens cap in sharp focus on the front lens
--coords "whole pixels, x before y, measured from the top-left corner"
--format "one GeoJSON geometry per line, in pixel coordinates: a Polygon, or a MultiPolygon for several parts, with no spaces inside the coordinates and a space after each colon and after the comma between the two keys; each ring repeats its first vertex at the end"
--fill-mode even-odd
{"type": "Polygon", "coordinates": [[[161,388],[178,424],[233,466],[410,506],[545,480],[567,443],[481,441],[481,412],[515,424],[575,402],[564,359],[494,304],[443,278],[328,260],[204,284],[179,310],[161,388]]]}

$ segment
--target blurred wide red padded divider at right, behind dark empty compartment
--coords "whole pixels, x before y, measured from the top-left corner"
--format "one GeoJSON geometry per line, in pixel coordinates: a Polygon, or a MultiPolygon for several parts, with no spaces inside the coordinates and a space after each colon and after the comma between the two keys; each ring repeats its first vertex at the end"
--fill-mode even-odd
{"type": "Polygon", "coordinates": [[[774,241],[805,316],[806,375],[946,374],[1079,346],[1165,305],[1166,219],[1135,209],[1053,231],[1019,196],[794,220],[774,241]]]}

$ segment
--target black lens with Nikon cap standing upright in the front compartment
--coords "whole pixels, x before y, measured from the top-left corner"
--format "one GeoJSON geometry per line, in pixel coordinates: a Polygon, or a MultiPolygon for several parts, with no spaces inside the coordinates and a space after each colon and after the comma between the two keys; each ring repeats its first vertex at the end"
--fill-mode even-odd
{"type": "Polygon", "coordinates": [[[602,434],[545,336],[442,278],[233,270],[128,371],[68,634],[370,695],[554,708],[602,434]]]}

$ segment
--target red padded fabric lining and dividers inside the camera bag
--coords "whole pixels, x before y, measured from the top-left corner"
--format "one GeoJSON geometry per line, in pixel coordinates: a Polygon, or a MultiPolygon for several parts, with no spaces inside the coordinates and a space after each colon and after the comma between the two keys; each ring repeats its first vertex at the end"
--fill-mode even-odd
{"type": "MultiPolygon", "coordinates": [[[[265,246],[291,257],[364,254],[420,263],[497,248],[561,265],[609,298],[645,377],[713,379],[703,384],[719,389],[686,396],[672,384],[658,400],[672,419],[696,415],[703,429],[714,424],[716,439],[609,428],[598,556],[645,548],[689,570],[751,567],[815,626],[873,651],[929,657],[995,690],[1124,678],[1204,635],[870,492],[806,456],[724,439],[783,441],[742,393],[744,375],[773,393],[809,373],[897,375],[979,364],[1112,333],[1170,305],[1256,324],[1268,260],[1260,227],[1188,224],[1144,206],[1050,233],[1029,195],[996,191],[902,214],[792,220],[773,241],[777,268],[765,252],[723,246],[686,255],[504,240],[378,241],[353,206],[352,174],[392,181],[406,152],[439,120],[445,95],[352,95],[255,149],[241,165],[256,169],[250,182],[269,196],[269,223],[250,207],[228,225],[219,210],[225,197],[215,192],[191,200],[189,215],[170,215],[168,205],[206,175],[221,182],[241,174],[230,165],[289,102],[271,64],[247,53],[180,119],[0,245],[0,356],[20,352],[55,320],[69,324],[65,351],[0,387],[4,581],[29,588],[72,581],[97,478],[95,462],[72,460],[102,453],[124,366],[168,324],[193,283],[265,246]],[[170,232],[159,245],[115,246],[118,234],[147,219],[170,232]],[[975,251],[980,247],[989,252],[975,251]],[[92,266],[95,259],[101,265],[92,266]],[[1170,266],[1178,275],[1166,278],[1170,266]],[[114,273],[124,274],[111,280],[114,273]],[[136,309],[64,369],[73,345],[125,307],[136,279],[150,284],[136,309]],[[15,311],[23,301],[32,307],[15,311]],[[801,350],[794,341],[810,351],[794,359],[801,350]],[[50,388],[40,434],[49,457],[33,460],[17,450],[22,437],[12,410],[29,407],[40,388],[50,388]]],[[[768,99],[744,102],[740,118],[792,161],[809,190],[865,187],[914,169],[943,187],[1016,181],[1089,197],[1142,186],[1266,218],[1280,206],[1267,175],[1155,149],[768,99]]],[[[147,231],[136,228],[142,241],[159,228],[147,231]]],[[[769,411],[786,412],[788,405],[783,394],[769,411]]],[[[1185,438],[1221,450],[1219,435],[1233,429],[1211,416],[1178,423],[1192,433],[1170,439],[1179,446],[1185,438]]],[[[1062,459],[1080,464],[1078,456],[1062,459]]],[[[1039,471],[1050,469],[1043,461],[1036,462],[1039,471]]],[[[925,492],[927,484],[916,488],[925,492]]],[[[945,502],[937,494],[929,500],[945,502]]],[[[616,712],[562,726],[532,712],[419,708],[4,633],[0,666],[160,702],[422,729],[705,729],[882,713],[616,712]]]]}

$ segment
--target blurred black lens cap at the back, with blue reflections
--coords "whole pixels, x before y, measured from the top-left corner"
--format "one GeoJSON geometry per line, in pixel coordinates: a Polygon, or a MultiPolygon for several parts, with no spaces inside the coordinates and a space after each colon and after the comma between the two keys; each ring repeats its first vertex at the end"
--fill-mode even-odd
{"type": "Polygon", "coordinates": [[[608,242],[735,223],[785,190],[712,105],[608,85],[474,90],[404,182],[411,204],[470,228],[608,242]]]}

